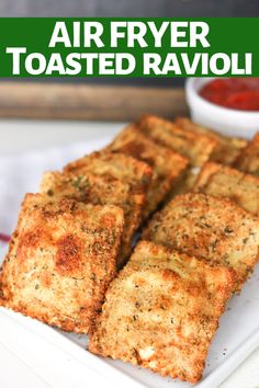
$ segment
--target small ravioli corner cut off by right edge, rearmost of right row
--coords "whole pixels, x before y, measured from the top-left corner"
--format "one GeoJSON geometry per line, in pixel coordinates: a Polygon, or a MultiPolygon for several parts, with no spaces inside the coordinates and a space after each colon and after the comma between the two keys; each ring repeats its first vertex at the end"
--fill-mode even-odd
{"type": "Polygon", "coordinates": [[[240,171],[259,176],[259,133],[240,151],[234,167],[240,171]]]}

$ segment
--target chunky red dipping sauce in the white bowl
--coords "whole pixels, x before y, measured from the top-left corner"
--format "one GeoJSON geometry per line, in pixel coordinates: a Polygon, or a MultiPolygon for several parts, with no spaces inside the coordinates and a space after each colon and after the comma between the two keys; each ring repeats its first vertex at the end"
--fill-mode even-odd
{"type": "Polygon", "coordinates": [[[206,83],[199,94],[221,106],[259,111],[259,78],[225,78],[206,83]]]}

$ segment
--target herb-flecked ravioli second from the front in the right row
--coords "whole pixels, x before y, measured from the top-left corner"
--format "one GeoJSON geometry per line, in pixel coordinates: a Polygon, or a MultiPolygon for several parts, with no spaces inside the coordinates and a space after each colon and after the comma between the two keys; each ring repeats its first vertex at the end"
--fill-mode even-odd
{"type": "Polygon", "coordinates": [[[143,239],[234,269],[239,290],[258,259],[259,219],[228,198],[190,193],[157,213],[143,239]]]}

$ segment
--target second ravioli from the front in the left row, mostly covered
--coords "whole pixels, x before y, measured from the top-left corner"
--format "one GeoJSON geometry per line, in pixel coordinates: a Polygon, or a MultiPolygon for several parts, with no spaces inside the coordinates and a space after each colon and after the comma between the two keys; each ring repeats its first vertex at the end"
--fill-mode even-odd
{"type": "Polygon", "coordinates": [[[93,205],[116,205],[124,212],[124,230],[117,256],[121,267],[131,254],[132,238],[142,221],[145,193],[134,192],[133,186],[111,175],[93,175],[89,172],[75,173],[46,172],[41,192],[53,196],[66,196],[93,205]]]}

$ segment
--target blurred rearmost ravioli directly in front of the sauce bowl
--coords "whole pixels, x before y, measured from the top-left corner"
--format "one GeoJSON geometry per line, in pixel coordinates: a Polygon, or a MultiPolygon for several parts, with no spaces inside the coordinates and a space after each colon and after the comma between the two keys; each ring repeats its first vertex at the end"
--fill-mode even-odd
{"type": "Polygon", "coordinates": [[[240,150],[246,147],[247,141],[238,137],[227,137],[212,129],[205,128],[193,123],[188,117],[177,117],[174,123],[182,129],[194,134],[204,134],[217,141],[210,160],[222,164],[232,164],[239,155],[240,150]]]}

